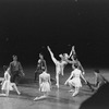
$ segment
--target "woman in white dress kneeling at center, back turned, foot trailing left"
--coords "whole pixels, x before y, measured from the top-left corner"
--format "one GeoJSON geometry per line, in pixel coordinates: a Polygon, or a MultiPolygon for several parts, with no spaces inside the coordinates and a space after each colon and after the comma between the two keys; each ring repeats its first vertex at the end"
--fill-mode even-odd
{"type": "Polygon", "coordinates": [[[43,73],[39,75],[39,90],[44,93],[43,96],[36,97],[34,100],[43,99],[48,96],[50,92],[51,82],[50,82],[50,74],[44,69],[43,73]]]}

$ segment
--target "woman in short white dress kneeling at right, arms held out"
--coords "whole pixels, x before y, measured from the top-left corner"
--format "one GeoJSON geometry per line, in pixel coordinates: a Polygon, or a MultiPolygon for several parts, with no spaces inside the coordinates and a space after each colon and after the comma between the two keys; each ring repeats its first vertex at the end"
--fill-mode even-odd
{"type": "Polygon", "coordinates": [[[71,72],[70,77],[64,83],[64,85],[69,84],[70,87],[74,87],[74,93],[72,95],[73,97],[78,94],[80,88],[82,87],[81,77],[85,81],[85,83],[87,83],[82,74],[82,71],[78,69],[78,65],[74,64],[74,70],[71,72]]]}

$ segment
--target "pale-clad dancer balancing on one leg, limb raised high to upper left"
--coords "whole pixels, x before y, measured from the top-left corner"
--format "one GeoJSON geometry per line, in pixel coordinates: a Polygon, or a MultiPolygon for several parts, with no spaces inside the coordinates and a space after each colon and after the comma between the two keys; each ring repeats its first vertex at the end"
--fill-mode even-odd
{"type": "Polygon", "coordinates": [[[56,81],[57,81],[56,85],[59,88],[59,74],[63,75],[63,68],[68,62],[65,61],[65,58],[62,55],[59,56],[61,58],[61,61],[58,61],[55,58],[55,56],[53,56],[51,49],[49,48],[49,46],[47,48],[48,48],[48,51],[50,52],[50,56],[51,56],[51,59],[52,59],[53,63],[56,64],[56,81]]]}

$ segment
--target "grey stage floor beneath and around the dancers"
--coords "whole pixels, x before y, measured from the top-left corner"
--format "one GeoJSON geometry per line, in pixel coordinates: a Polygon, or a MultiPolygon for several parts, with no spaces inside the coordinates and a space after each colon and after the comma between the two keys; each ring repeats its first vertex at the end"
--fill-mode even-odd
{"type": "MultiPolygon", "coordinates": [[[[71,69],[64,70],[64,76],[60,75],[60,88],[57,89],[55,82],[52,81],[52,89],[46,99],[34,101],[36,96],[40,96],[38,92],[38,82],[34,83],[34,68],[24,68],[25,78],[17,86],[21,95],[15,92],[11,92],[9,97],[0,97],[0,109],[78,109],[81,104],[90,97],[94,93],[84,85],[80,94],[76,97],[72,97],[72,93],[69,93],[70,87],[64,86],[64,82],[70,75],[71,69]]],[[[55,68],[48,68],[51,77],[55,78],[55,68]],[[52,72],[52,73],[51,73],[52,72]]],[[[94,83],[93,69],[86,69],[85,77],[94,83]]],[[[102,75],[109,80],[107,69],[100,69],[102,75]]]]}

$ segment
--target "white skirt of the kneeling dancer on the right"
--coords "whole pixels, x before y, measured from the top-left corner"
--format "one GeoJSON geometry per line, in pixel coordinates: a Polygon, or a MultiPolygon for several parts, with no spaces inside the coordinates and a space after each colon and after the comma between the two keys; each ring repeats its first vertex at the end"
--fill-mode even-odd
{"type": "Polygon", "coordinates": [[[74,86],[74,87],[82,87],[82,83],[81,83],[80,77],[74,77],[74,78],[70,80],[70,81],[68,82],[68,84],[69,84],[69,85],[72,85],[72,86],[74,86]]]}

